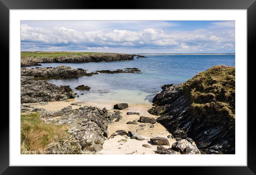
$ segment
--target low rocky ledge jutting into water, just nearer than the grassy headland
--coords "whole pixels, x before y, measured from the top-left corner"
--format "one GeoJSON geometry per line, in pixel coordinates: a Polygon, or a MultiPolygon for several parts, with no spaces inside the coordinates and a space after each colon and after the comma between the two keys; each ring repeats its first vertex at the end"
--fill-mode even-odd
{"type": "Polygon", "coordinates": [[[73,69],[69,66],[58,67],[40,67],[40,68],[23,68],[21,69],[21,76],[31,76],[35,79],[62,79],[74,78],[81,76],[92,76],[95,73],[87,73],[83,69],[73,69]]]}

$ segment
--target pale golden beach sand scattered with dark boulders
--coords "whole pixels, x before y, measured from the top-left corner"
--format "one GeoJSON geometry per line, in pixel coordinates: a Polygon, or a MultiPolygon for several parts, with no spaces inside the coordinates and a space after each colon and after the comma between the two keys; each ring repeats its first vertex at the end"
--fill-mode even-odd
{"type": "MultiPolygon", "coordinates": [[[[39,103],[30,103],[31,107],[37,107],[37,108],[44,108],[47,111],[56,111],[56,110],[61,110],[64,107],[68,107],[71,103],[78,103],[78,105],[84,106],[84,105],[91,105],[91,106],[96,106],[100,109],[106,107],[109,112],[113,112],[113,106],[114,104],[106,104],[106,103],[92,103],[92,102],[82,102],[78,101],[77,99],[69,99],[69,102],[66,101],[59,101],[59,102],[48,102],[49,104],[46,105],[41,105],[39,103]]],[[[80,106],[77,105],[71,105],[72,109],[78,109],[80,106]]],[[[152,106],[145,104],[145,105],[139,105],[139,104],[134,104],[134,105],[129,105],[129,108],[125,110],[120,110],[122,112],[122,117],[119,122],[115,123],[110,123],[108,125],[108,131],[109,135],[114,133],[116,130],[125,130],[125,131],[131,131],[131,132],[136,132],[136,130],[139,127],[139,125],[133,125],[133,124],[126,124],[129,121],[139,120],[139,115],[127,115],[127,112],[139,112],[141,115],[146,116],[146,117],[154,117],[157,118],[155,115],[151,115],[147,112],[148,109],[150,109],[152,106]]],[[[100,151],[98,154],[156,154],[155,151],[157,150],[157,145],[151,145],[150,143],[150,138],[152,137],[164,137],[167,138],[167,135],[170,135],[170,133],[164,128],[161,124],[155,123],[153,128],[150,128],[152,124],[149,123],[140,123],[138,121],[138,124],[144,124],[143,130],[139,130],[136,133],[141,135],[143,138],[146,140],[136,140],[136,139],[130,139],[130,138],[125,138],[127,135],[120,136],[117,135],[112,139],[108,139],[104,141],[103,144],[103,150],[100,151]],[[120,139],[127,139],[127,142],[118,142],[120,139]],[[143,144],[148,144],[152,146],[152,148],[146,148],[143,147],[143,144]]],[[[172,145],[174,142],[176,142],[173,139],[169,139],[170,145],[172,145]]],[[[171,148],[171,146],[164,145],[166,148],[171,148]]]]}

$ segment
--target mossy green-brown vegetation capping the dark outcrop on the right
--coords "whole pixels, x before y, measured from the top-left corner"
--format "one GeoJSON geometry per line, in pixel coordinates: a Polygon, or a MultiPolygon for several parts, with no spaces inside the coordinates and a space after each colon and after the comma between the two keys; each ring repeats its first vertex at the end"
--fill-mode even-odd
{"type": "Polygon", "coordinates": [[[230,117],[235,124],[235,67],[213,66],[181,85],[195,116],[230,117]]]}

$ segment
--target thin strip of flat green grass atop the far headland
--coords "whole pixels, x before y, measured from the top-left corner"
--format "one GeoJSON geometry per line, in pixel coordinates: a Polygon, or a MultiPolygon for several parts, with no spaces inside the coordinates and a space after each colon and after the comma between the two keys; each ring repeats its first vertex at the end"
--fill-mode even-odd
{"type": "Polygon", "coordinates": [[[59,57],[59,56],[68,56],[68,57],[79,57],[84,55],[93,55],[93,54],[104,54],[102,52],[21,52],[21,57],[59,57]]]}

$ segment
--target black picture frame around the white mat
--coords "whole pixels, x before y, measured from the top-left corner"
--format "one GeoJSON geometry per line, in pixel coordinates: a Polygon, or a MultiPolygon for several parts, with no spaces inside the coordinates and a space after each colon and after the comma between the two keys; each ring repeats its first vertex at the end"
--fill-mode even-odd
{"type": "MultiPolygon", "coordinates": [[[[255,50],[256,38],[256,2],[255,0],[130,0],[130,1],[88,1],[88,0],[0,0],[0,46],[2,62],[9,65],[9,10],[10,9],[247,9],[247,166],[231,167],[184,167],[182,171],[189,174],[256,174],[256,137],[254,115],[250,115],[255,99],[256,85],[250,83],[254,78],[252,54],[255,50]],[[5,60],[3,60],[3,58],[5,60]]],[[[240,59],[240,58],[239,58],[240,59]]],[[[241,58],[246,59],[246,58],[241,58]]],[[[10,66],[10,65],[9,65],[10,66]]],[[[9,89],[9,80],[1,83],[2,92],[9,89]]],[[[10,93],[10,91],[9,91],[10,93]]],[[[7,93],[5,94],[7,96],[7,93]]],[[[7,99],[7,97],[6,97],[7,99]]],[[[245,102],[246,103],[246,102],[245,102]]],[[[5,103],[6,105],[6,103],[5,103]]],[[[11,105],[11,104],[10,104],[11,105]]],[[[14,167],[9,166],[9,119],[2,116],[0,127],[0,174],[49,174],[54,169],[44,167],[14,167]]],[[[173,167],[172,170],[181,168],[173,167]]],[[[58,169],[59,173],[68,169],[58,169]]],[[[75,168],[80,170],[80,168],[75,168]]],[[[107,170],[104,168],[104,171],[107,170]]],[[[150,169],[148,169],[151,171],[150,169]]],[[[73,169],[74,171],[74,169],[73,169]]],[[[131,171],[130,171],[131,172],[131,171]]],[[[128,174],[129,168],[123,168],[122,174],[128,174]]],[[[144,172],[146,173],[146,172],[144,172]]],[[[51,174],[51,173],[50,173],[51,174]]]]}

